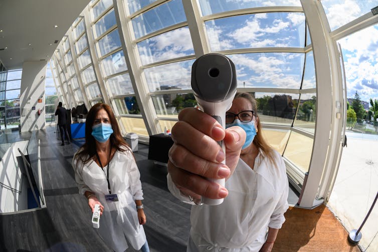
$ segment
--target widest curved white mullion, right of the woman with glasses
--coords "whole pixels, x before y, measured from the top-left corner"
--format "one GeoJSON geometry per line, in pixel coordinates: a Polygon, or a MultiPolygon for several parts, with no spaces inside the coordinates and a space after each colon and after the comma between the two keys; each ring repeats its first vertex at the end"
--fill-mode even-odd
{"type": "MultiPolygon", "coordinates": [[[[336,119],[340,107],[335,103],[342,101],[342,78],[339,55],[334,40],[330,37],[329,25],[321,3],[316,0],[301,0],[308,22],[314,52],[317,85],[317,109],[315,138],[309,165],[307,183],[301,191],[301,207],[313,207],[319,203],[317,193],[323,171],[334,169],[332,156],[340,146],[342,120],[336,119]]],[[[324,179],[324,178],[323,178],[324,179]]]]}

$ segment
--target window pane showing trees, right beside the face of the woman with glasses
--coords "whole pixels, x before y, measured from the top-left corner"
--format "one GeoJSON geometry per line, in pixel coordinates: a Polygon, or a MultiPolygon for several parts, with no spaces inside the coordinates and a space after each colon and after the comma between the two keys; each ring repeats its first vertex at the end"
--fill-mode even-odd
{"type": "Polygon", "coordinates": [[[298,105],[298,94],[257,93],[255,98],[261,123],[292,125],[298,105]]]}

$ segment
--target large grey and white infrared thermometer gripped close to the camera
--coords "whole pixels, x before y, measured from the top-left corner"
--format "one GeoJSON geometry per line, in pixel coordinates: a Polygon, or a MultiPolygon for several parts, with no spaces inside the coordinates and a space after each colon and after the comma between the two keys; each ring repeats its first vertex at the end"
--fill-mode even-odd
{"type": "MultiPolygon", "coordinates": [[[[202,111],[215,118],[223,128],[226,125],[226,111],[232,106],[236,94],[236,70],[234,63],[221,54],[205,54],[192,66],[192,89],[202,111]]],[[[226,153],[223,141],[218,144],[226,153]]],[[[226,163],[224,160],[222,163],[226,163]]],[[[225,179],[209,179],[225,186],[225,179]]],[[[219,205],[222,199],[202,197],[208,205],[219,205]]]]}

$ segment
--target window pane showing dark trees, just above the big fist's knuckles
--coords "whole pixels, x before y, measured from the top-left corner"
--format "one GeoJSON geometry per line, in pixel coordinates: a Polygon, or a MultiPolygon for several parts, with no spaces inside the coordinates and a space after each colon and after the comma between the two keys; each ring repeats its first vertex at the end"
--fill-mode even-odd
{"type": "Polygon", "coordinates": [[[183,108],[193,108],[197,105],[196,98],[192,93],[152,95],[151,98],[157,116],[174,115],[172,118],[177,118],[177,114],[183,108]]]}

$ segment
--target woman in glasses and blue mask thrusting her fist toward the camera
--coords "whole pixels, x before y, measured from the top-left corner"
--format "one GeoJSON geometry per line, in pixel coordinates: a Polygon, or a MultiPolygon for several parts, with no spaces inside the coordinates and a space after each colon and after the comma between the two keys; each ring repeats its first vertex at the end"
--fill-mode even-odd
{"type": "Polygon", "coordinates": [[[288,180],[282,157],[261,135],[256,110],[250,94],[237,93],[226,113],[226,130],[193,108],[183,110],[172,128],[168,188],[193,204],[187,251],[273,247],[288,208],[288,180]],[[220,140],[225,141],[226,153],[217,143],[220,140]],[[221,163],[225,158],[226,165],[221,163]],[[226,178],[227,189],[206,178],[226,178]],[[201,196],[224,202],[201,204],[201,196]]]}

